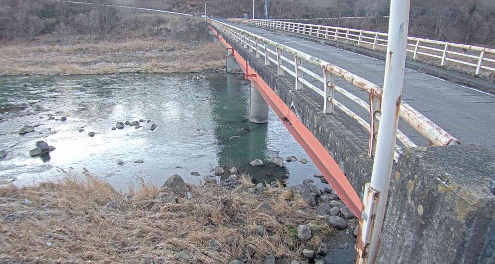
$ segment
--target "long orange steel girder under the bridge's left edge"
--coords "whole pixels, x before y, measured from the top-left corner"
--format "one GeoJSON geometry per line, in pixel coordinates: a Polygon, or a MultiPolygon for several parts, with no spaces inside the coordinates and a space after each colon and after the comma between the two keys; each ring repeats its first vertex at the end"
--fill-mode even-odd
{"type": "MultiPolygon", "coordinates": [[[[208,24],[211,31],[216,33],[220,42],[227,48],[234,51],[234,48],[218,33],[211,25],[208,24]]],[[[361,219],[361,211],[363,204],[359,199],[354,188],[350,185],[347,177],[344,175],[339,165],[328,154],[325,147],[318,139],[309,131],[302,121],[291,111],[291,109],[280,99],[280,97],[268,86],[267,83],[258,75],[256,71],[249,66],[238,52],[232,52],[237,63],[245,69],[245,77],[251,81],[256,89],[266,102],[270,105],[277,116],[282,120],[282,123],[287,130],[292,134],[294,139],[302,146],[316,167],[323,174],[328,183],[335,190],[337,195],[346,204],[346,206],[361,219]],[[249,74],[248,74],[249,73],[249,74]]]]}

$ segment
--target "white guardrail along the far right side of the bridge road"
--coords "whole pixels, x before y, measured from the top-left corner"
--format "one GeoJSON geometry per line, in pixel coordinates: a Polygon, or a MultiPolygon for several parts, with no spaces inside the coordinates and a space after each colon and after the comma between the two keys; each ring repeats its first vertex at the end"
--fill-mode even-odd
{"type": "MultiPolygon", "coordinates": [[[[232,18],[229,21],[341,41],[371,49],[387,49],[388,34],[382,32],[264,19],[232,18]]],[[[453,66],[477,75],[481,74],[482,70],[484,75],[495,72],[495,49],[492,48],[408,37],[407,52],[413,59],[426,60],[440,66],[453,66]]]]}

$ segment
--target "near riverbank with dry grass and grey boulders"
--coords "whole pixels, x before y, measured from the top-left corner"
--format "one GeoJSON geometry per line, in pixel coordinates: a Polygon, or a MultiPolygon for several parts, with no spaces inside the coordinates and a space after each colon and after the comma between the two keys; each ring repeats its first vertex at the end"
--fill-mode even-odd
{"type": "Polygon", "coordinates": [[[321,264],[353,247],[357,219],[332,189],[254,185],[222,169],[199,185],[139,178],[127,193],[89,173],[4,186],[0,261],[321,264]]]}

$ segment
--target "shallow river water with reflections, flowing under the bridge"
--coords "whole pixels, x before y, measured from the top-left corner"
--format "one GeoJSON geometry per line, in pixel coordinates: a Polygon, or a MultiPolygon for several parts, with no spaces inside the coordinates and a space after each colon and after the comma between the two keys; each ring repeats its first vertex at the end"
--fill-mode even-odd
{"type": "Polygon", "coordinates": [[[31,184],[60,176],[59,169],[85,168],[125,190],[138,176],[158,186],[173,174],[197,183],[201,177],[190,175],[192,171],[208,175],[217,165],[236,166],[257,182],[288,178],[289,185],[320,174],[311,161],[284,162],[284,168],[270,162],[273,156],[309,157],[272,110],[267,124],[248,121],[250,83],[241,75],[193,76],[1,78],[1,113],[18,112],[22,104],[43,110],[0,123],[0,150],[9,152],[0,160],[0,178],[31,184]],[[67,120],[49,120],[49,114],[67,120]],[[111,129],[118,121],[139,119],[151,122],[138,129],[111,129]],[[153,123],[158,127],[151,131],[153,123]],[[23,125],[35,124],[39,126],[34,132],[17,133],[23,125]],[[84,131],[79,132],[81,128],[84,131]],[[90,137],[89,132],[96,135],[90,137]],[[56,149],[49,156],[30,157],[28,152],[38,140],[56,149]],[[254,159],[265,165],[252,167],[249,162],[254,159]]]}

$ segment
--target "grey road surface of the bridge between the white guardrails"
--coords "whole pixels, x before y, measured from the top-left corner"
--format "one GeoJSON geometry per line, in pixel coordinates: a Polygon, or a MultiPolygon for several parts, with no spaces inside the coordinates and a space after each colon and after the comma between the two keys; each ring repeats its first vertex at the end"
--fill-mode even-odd
{"type": "MultiPolygon", "coordinates": [[[[266,29],[225,20],[222,22],[323,59],[383,86],[385,61],[266,29]]],[[[318,72],[316,66],[304,66],[318,72]]],[[[336,83],[354,95],[368,100],[366,92],[346,82],[336,83]]],[[[495,150],[495,122],[493,122],[495,120],[495,95],[406,69],[402,100],[451,133],[463,144],[476,143],[495,150]]],[[[367,115],[364,111],[360,112],[362,109],[357,108],[352,110],[361,116],[367,115]]],[[[410,135],[418,145],[426,145],[427,142],[412,128],[407,128],[405,124],[400,124],[399,128],[410,135]]]]}

